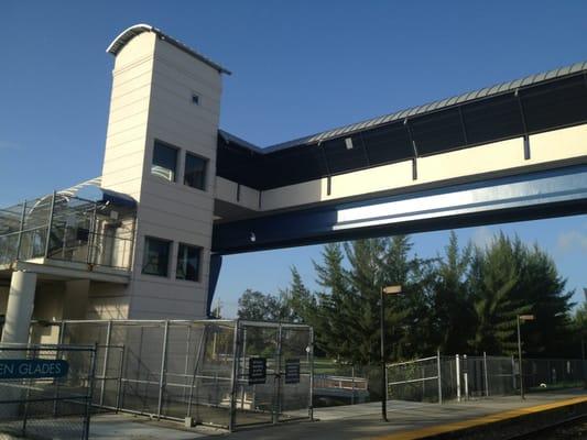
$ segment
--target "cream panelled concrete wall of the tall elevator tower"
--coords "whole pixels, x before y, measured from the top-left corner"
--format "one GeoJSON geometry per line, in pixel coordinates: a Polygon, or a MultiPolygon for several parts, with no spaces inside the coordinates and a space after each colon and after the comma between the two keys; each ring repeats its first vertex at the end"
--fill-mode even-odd
{"type": "Polygon", "coordinates": [[[91,314],[205,317],[220,94],[218,70],[154,33],[135,36],[117,55],[102,186],[139,201],[135,245],[131,283],[123,295],[130,298],[128,305],[102,288],[90,295],[91,314]],[[193,94],[199,105],[192,102],[193,94]],[[176,182],[151,174],[155,140],[178,148],[176,182]],[[208,161],[206,190],[183,184],[186,152],[208,161]],[[167,277],[141,273],[145,237],[172,241],[167,277]],[[175,278],[178,243],[203,249],[198,282],[175,278]]]}

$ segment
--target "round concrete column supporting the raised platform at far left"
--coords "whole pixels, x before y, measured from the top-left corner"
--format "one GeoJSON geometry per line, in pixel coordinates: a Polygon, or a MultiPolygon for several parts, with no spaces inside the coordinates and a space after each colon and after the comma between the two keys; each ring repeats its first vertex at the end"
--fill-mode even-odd
{"type": "Polygon", "coordinates": [[[2,342],[29,342],[35,289],[36,274],[34,272],[17,271],[12,273],[2,342]]]}

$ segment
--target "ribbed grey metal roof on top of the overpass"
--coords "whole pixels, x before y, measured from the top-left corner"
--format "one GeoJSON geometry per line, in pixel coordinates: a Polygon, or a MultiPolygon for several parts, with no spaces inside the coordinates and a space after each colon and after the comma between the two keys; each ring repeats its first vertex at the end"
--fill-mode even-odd
{"type": "MultiPolygon", "coordinates": [[[[369,119],[366,121],[343,125],[336,129],[327,130],[322,133],[312,134],[304,138],[298,138],[292,141],[274,144],[264,148],[256,147],[263,153],[271,153],[279,150],[289,148],[292,146],[298,146],[304,144],[314,144],[323,141],[341,138],[351,133],[356,133],[366,129],[371,129],[378,125],[382,125],[389,122],[403,120],[405,118],[415,117],[418,114],[430,113],[436,110],[445,109],[452,106],[465,103],[468,101],[479,100],[483,98],[489,98],[507,92],[512,92],[519,89],[520,87],[532,86],[539,82],[546,82],[556,78],[561,78],[567,75],[574,75],[578,73],[587,72],[587,62],[575,63],[570,66],[559,67],[553,70],[543,72],[541,74],[530,75],[524,78],[514,79],[507,82],[500,82],[491,87],[486,87],[479,90],[469,91],[463,95],[454,96],[452,98],[441,99],[437,101],[428,102],[423,106],[412,107],[405,110],[395,111],[393,113],[384,114],[382,117],[369,119]]],[[[225,132],[226,133],[226,132],[225,132]]],[[[228,133],[226,133],[228,134],[228,133]]],[[[233,135],[231,135],[233,136],[233,135]]],[[[237,138],[237,136],[233,136],[237,138]]],[[[251,146],[249,142],[247,142],[251,146]]],[[[254,146],[254,145],[253,145],[254,146]]]]}

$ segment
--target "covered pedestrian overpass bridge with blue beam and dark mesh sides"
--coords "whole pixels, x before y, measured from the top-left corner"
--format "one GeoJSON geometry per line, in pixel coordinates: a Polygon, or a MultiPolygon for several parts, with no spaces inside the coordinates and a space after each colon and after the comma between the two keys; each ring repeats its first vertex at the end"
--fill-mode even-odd
{"type": "Polygon", "coordinates": [[[583,213],[586,67],[268,148],[220,131],[213,252],[583,213]]]}

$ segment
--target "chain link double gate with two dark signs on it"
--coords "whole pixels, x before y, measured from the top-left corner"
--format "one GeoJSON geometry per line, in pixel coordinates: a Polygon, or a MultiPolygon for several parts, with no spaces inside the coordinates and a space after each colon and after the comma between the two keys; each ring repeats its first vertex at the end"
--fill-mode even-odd
{"type": "Polygon", "coordinates": [[[231,428],[312,418],[313,331],[238,321],[231,428]]]}

